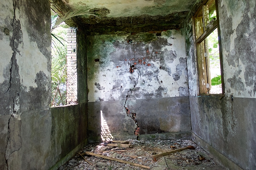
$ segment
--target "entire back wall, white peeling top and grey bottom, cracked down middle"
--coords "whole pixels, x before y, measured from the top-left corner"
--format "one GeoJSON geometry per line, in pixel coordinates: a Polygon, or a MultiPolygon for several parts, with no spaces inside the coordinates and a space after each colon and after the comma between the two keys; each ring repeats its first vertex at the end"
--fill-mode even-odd
{"type": "Polygon", "coordinates": [[[184,40],[183,30],[87,36],[89,140],[100,137],[101,110],[114,137],[132,136],[125,107],[140,134],[191,131],[184,40]]]}

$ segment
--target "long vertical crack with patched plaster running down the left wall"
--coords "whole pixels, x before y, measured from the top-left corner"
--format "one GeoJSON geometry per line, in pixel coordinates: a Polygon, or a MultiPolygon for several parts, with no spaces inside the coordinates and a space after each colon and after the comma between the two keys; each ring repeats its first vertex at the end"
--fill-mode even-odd
{"type": "Polygon", "coordinates": [[[19,95],[20,95],[20,76],[19,66],[17,64],[16,55],[20,55],[19,44],[22,44],[22,31],[20,21],[16,18],[16,9],[19,9],[18,1],[13,1],[14,16],[12,19],[12,37],[10,47],[13,51],[11,57],[9,88],[5,92],[9,92],[10,100],[12,100],[12,113],[8,121],[7,142],[5,148],[5,161],[7,169],[9,168],[8,160],[10,155],[19,151],[22,146],[21,119],[19,112],[19,95]]]}

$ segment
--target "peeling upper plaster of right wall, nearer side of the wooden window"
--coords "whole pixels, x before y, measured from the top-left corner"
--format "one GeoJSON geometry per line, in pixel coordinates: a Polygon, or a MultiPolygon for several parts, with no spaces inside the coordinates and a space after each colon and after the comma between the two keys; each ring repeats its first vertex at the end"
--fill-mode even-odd
{"type": "Polygon", "coordinates": [[[256,97],[255,1],[219,1],[225,93],[256,97]]]}

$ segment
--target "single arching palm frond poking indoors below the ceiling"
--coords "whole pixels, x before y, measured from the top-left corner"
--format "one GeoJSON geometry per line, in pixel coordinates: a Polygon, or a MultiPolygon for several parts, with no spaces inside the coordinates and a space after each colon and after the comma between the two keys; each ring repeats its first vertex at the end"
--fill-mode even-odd
{"type": "Polygon", "coordinates": [[[92,15],[92,16],[100,18],[98,14],[89,12],[89,9],[70,10],[64,16],[62,16],[62,17],[59,16],[57,18],[57,20],[54,24],[54,28],[57,27],[58,25],[60,25],[62,22],[66,21],[67,19],[72,18],[74,16],[79,16],[79,15],[92,15]]]}

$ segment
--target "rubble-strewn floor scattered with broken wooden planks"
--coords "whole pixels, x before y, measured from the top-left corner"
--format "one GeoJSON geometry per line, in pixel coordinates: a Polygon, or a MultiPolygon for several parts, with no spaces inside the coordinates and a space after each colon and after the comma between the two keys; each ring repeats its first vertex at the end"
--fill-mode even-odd
{"type": "Polygon", "coordinates": [[[107,143],[88,144],[79,151],[59,170],[225,170],[209,154],[191,140],[131,140],[107,143]],[[156,155],[170,152],[188,146],[194,149],[184,149],[165,156],[156,155]],[[120,163],[98,156],[88,155],[88,152],[108,156],[118,160],[129,161],[137,166],[120,163]],[[86,154],[87,153],[87,154],[86,154]],[[144,165],[148,168],[141,168],[144,165]]]}

